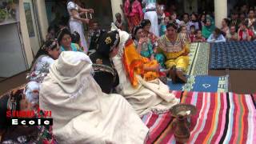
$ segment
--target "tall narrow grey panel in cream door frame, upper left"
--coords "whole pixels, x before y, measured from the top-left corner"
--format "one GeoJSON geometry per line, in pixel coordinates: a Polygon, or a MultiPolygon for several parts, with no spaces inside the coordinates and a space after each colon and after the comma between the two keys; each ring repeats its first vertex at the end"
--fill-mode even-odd
{"type": "Polygon", "coordinates": [[[26,15],[26,26],[30,37],[30,46],[33,55],[38,53],[40,48],[40,41],[38,36],[38,24],[34,15],[34,5],[32,0],[24,0],[23,2],[25,15],[26,15]]]}

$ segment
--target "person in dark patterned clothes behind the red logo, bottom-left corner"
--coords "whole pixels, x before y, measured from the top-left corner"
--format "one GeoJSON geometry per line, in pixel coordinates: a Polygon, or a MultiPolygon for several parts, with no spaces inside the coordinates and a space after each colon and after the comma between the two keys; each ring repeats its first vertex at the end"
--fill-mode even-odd
{"type": "MultiPolygon", "coordinates": [[[[12,114],[7,117],[7,111],[32,110],[32,104],[26,100],[23,89],[24,87],[21,86],[0,96],[0,143],[57,143],[49,126],[8,125],[10,118],[17,117],[12,114]]],[[[38,118],[37,110],[35,114],[34,117],[38,118]]]]}

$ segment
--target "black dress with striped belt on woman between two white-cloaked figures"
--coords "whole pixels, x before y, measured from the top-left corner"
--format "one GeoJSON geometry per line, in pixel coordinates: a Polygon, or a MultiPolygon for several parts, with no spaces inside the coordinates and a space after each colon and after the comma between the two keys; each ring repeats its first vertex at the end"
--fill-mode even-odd
{"type": "Polygon", "coordinates": [[[102,92],[110,94],[119,84],[118,73],[114,69],[112,60],[97,51],[90,54],[90,60],[94,63],[94,79],[102,88],[102,92]]]}

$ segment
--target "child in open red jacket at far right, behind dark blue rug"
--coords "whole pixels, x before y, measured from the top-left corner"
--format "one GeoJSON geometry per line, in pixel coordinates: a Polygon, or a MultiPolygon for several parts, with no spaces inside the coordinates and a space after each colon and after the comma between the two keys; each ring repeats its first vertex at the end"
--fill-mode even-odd
{"type": "Polygon", "coordinates": [[[241,26],[238,30],[238,40],[239,41],[251,41],[254,38],[254,33],[247,28],[248,22],[241,22],[241,26]]]}

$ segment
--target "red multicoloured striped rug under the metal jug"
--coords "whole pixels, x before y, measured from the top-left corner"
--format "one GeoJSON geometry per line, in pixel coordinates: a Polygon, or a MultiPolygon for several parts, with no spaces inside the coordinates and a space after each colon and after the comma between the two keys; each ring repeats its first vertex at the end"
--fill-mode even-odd
{"type": "MultiPolygon", "coordinates": [[[[254,143],[256,141],[256,94],[175,91],[182,103],[197,107],[190,119],[187,143],[254,143]]],[[[142,121],[150,128],[146,143],[176,143],[170,112],[149,113],[142,121]]]]}

